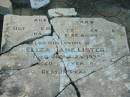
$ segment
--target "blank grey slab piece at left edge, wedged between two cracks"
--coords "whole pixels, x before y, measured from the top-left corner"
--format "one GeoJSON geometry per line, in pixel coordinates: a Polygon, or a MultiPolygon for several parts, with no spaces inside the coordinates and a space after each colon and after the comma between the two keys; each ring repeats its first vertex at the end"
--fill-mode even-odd
{"type": "Polygon", "coordinates": [[[31,65],[39,62],[34,52],[28,52],[30,45],[20,45],[9,53],[0,56],[0,68],[7,70],[19,70],[28,68],[31,65]]]}

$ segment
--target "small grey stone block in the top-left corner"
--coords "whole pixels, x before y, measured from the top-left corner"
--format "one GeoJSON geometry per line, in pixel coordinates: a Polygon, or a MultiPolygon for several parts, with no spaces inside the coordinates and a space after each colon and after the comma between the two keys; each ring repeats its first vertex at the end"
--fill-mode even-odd
{"type": "Polygon", "coordinates": [[[6,15],[12,13],[12,4],[10,0],[0,0],[0,14],[6,15]]]}

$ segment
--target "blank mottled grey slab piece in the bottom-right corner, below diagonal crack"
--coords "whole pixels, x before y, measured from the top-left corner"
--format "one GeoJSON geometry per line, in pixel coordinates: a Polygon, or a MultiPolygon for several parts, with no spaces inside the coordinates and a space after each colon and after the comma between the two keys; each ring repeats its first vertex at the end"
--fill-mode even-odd
{"type": "Polygon", "coordinates": [[[82,97],[129,97],[130,57],[76,82],[82,97]]]}

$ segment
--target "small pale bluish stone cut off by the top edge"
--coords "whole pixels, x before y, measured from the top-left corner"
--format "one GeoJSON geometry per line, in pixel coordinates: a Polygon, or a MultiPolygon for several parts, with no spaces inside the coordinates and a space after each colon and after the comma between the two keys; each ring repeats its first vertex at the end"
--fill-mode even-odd
{"type": "Polygon", "coordinates": [[[39,9],[50,3],[50,0],[30,0],[33,9],[39,9]]]}

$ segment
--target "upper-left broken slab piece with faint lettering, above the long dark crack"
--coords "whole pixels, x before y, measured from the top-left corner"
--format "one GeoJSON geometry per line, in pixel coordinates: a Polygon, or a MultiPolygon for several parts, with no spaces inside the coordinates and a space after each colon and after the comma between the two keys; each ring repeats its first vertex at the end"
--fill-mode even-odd
{"type": "Polygon", "coordinates": [[[49,34],[51,34],[51,26],[46,16],[6,15],[3,25],[2,52],[49,34]]]}

